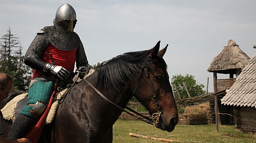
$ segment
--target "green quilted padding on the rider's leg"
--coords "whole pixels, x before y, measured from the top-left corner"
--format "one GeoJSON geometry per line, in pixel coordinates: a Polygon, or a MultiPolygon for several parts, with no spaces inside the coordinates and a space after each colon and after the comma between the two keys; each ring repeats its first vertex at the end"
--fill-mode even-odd
{"type": "Polygon", "coordinates": [[[20,114],[35,118],[35,116],[30,113],[30,110],[33,108],[33,106],[28,104],[35,104],[38,100],[42,100],[44,103],[48,103],[50,101],[50,97],[52,96],[53,90],[54,85],[52,82],[37,81],[32,84],[28,89],[28,103],[22,109],[20,114]]]}

